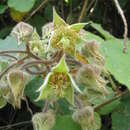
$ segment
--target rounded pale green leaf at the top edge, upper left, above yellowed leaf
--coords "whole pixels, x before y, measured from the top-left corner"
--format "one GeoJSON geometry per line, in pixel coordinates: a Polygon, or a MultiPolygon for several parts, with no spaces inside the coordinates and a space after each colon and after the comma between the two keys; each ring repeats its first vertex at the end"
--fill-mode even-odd
{"type": "Polygon", "coordinates": [[[8,0],[8,6],[19,12],[28,12],[34,6],[36,0],[8,0]]]}

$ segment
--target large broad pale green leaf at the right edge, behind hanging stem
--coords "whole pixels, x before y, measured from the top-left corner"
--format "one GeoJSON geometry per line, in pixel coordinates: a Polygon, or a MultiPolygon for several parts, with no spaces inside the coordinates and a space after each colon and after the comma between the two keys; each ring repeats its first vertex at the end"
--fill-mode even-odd
{"type": "Polygon", "coordinates": [[[127,45],[128,53],[124,54],[123,40],[111,39],[101,44],[101,52],[105,56],[106,69],[119,83],[130,89],[130,41],[127,45]]]}

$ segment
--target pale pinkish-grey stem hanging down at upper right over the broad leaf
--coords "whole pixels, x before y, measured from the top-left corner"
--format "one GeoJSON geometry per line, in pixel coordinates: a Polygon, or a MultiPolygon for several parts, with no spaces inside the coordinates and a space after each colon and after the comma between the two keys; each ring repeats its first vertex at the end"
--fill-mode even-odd
{"type": "Polygon", "coordinates": [[[127,42],[127,35],[128,35],[127,20],[125,18],[123,10],[120,7],[120,4],[119,4],[118,0],[113,0],[113,1],[114,1],[115,6],[116,6],[116,8],[117,8],[122,20],[123,20],[123,23],[124,23],[124,47],[123,47],[123,53],[126,53],[127,52],[127,44],[126,44],[126,42],[127,42]]]}

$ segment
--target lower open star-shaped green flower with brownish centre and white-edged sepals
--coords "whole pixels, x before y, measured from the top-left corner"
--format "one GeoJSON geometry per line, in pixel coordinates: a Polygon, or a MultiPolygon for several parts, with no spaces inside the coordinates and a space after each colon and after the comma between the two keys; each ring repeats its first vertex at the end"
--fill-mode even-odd
{"type": "Polygon", "coordinates": [[[65,56],[63,56],[59,63],[46,76],[44,83],[39,89],[40,95],[37,100],[64,97],[69,103],[73,104],[74,88],[82,93],[69,74],[65,56]]]}

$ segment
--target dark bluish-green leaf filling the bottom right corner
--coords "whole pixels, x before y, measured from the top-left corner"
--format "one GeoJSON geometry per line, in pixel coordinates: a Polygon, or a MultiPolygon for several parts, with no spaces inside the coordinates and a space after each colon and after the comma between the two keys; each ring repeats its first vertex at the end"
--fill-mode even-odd
{"type": "Polygon", "coordinates": [[[112,113],[112,130],[130,130],[130,94],[121,100],[121,105],[112,113]]]}

